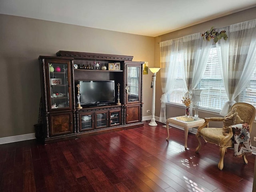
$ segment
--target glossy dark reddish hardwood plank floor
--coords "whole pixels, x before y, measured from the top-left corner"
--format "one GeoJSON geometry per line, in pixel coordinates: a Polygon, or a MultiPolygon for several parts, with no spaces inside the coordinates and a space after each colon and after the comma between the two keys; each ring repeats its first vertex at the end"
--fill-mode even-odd
{"type": "Polygon", "coordinates": [[[1,192],[252,192],[255,155],[248,165],[228,150],[184,131],[148,126],[42,145],[35,140],[0,145],[1,192]],[[203,143],[203,142],[202,142],[203,143]]]}

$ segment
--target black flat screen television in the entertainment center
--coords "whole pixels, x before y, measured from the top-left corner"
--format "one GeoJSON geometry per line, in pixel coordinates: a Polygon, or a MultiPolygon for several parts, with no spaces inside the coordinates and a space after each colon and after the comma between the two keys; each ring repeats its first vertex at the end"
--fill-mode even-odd
{"type": "Polygon", "coordinates": [[[82,105],[100,105],[115,102],[114,81],[78,81],[78,83],[82,105]]]}

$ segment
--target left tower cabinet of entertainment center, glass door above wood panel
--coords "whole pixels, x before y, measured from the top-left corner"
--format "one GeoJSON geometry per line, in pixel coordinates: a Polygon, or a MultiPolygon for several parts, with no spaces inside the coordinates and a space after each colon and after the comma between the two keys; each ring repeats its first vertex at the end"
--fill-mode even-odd
{"type": "Polygon", "coordinates": [[[72,86],[73,58],[39,56],[43,137],[74,133],[72,86]]]}

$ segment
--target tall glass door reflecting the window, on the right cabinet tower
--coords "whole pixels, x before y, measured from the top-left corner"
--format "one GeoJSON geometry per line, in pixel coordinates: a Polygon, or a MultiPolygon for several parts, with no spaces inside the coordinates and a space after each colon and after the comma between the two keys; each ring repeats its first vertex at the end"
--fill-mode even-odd
{"type": "Polygon", "coordinates": [[[140,66],[127,66],[126,103],[140,102],[140,66]]]}

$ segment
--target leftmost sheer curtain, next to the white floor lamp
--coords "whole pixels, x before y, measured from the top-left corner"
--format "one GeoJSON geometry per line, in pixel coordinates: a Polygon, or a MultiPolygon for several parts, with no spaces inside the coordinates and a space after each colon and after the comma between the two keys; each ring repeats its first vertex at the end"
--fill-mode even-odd
{"type": "Polygon", "coordinates": [[[168,40],[160,42],[160,74],[161,74],[161,111],[160,122],[166,122],[166,106],[167,93],[170,92],[171,87],[177,78],[179,50],[182,46],[182,39],[168,40]]]}

